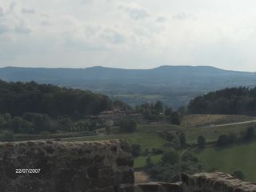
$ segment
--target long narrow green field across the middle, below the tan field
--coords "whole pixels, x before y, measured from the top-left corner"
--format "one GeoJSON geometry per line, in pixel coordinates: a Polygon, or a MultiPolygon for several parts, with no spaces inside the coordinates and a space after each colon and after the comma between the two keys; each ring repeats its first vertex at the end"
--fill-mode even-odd
{"type": "Polygon", "coordinates": [[[241,131],[246,131],[248,127],[256,127],[256,122],[222,127],[181,127],[168,123],[142,123],[138,124],[138,131],[133,134],[95,135],[74,137],[65,140],[127,139],[130,143],[138,143],[142,146],[142,149],[146,149],[159,148],[162,147],[163,143],[166,143],[166,141],[159,136],[160,132],[176,133],[177,131],[183,131],[186,133],[187,143],[197,143],[198,135],[205,136],[206,141],[216,141],[219,135],[229,134],[230,132],[240,134],[241,131]]]}

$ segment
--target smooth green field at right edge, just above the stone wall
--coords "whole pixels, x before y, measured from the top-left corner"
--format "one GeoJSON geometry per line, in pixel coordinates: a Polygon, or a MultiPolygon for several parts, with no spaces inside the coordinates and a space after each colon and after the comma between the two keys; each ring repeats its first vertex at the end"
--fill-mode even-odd
{"type": "Polygon", "coordinates": [[[222,149],[206,148],[198,158],[210,170],[218,169],[228,173],[242,170],[246,179],[256,182],[256,141],[222,149]]]}

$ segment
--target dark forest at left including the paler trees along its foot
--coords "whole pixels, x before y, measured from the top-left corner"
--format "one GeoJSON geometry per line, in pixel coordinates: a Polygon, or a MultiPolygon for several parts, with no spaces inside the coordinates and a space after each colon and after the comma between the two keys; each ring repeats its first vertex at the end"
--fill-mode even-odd
{"type": "Polygon", "coordinates": [[[7,138],[2,140],[12,140],[12,133],[94,131],[104,124],[86,116],[115,105],[126,107],[90,91],[0,80],[0,133],[7,138]]]}

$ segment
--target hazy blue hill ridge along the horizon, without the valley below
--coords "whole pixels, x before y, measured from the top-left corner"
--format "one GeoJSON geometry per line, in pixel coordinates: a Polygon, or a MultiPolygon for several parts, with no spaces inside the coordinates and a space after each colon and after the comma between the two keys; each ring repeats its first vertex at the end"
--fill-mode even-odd
{"type": "MultiPolygon", "coordinates": [[[[115,69],[106,67],[90,67],[86,69],[69,68],[18,68],[6,67],[0,69],[2,80],[65,82],[65,80],[183,80],[184,77],[192,78],[184,80],[208,79],[221,77],[222,80],[232,77],[247,77],[256,79],[254,72],[237,72],[217,69],[209,66],[161,66],[155,69],[115,69]]],[[[166,82],[167,83],[167,82],[166,82]]],[[[174,84],[178,82],[173,82],[174,84]]]]}

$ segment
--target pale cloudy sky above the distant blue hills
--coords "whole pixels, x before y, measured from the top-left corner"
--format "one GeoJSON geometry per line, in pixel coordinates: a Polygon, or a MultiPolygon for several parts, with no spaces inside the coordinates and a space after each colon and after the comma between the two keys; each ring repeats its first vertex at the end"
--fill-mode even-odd
{"type": "Polygon", "coordinates": [[[1,0],[0,67],[256,72],[255,0],[1,0]]]}

